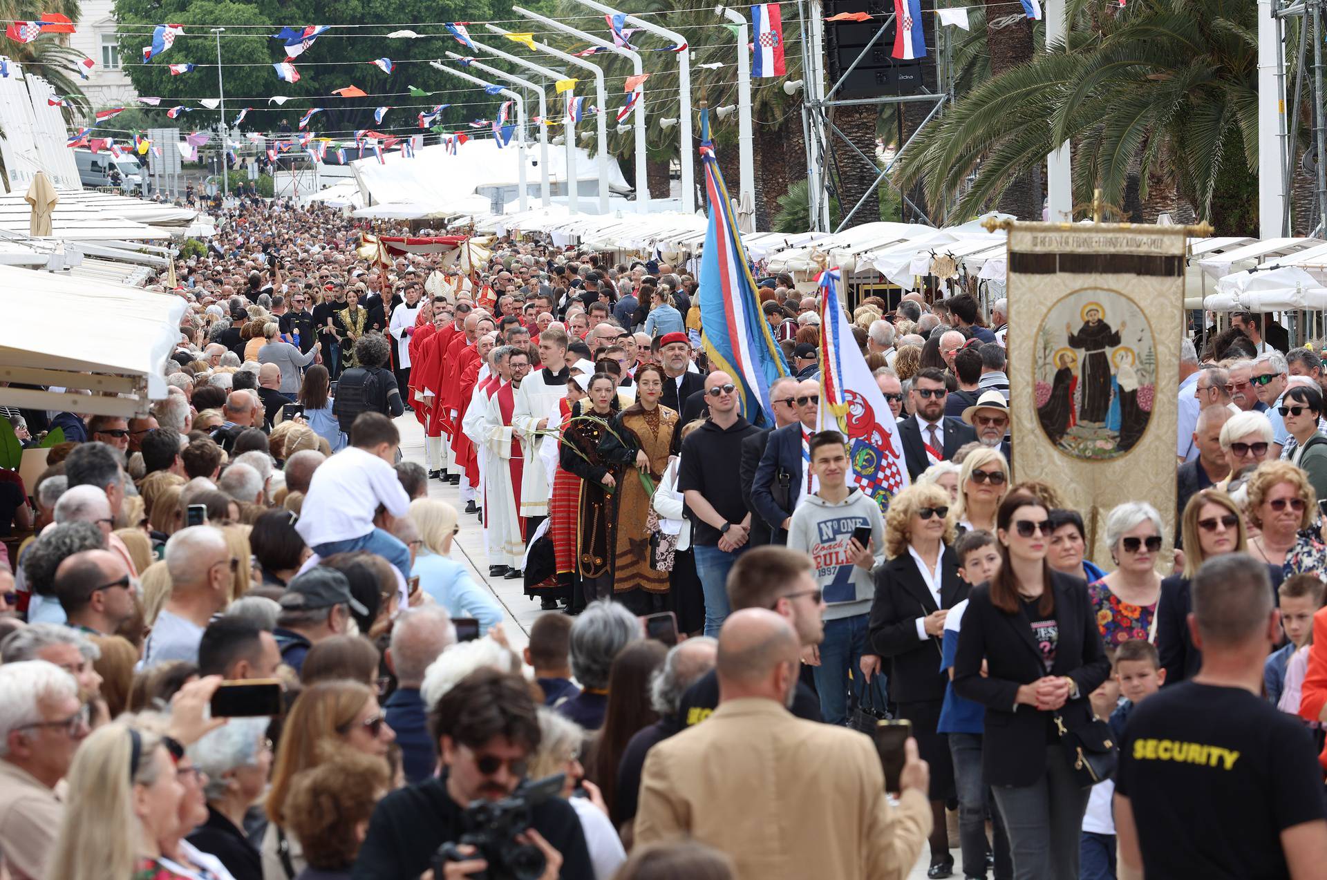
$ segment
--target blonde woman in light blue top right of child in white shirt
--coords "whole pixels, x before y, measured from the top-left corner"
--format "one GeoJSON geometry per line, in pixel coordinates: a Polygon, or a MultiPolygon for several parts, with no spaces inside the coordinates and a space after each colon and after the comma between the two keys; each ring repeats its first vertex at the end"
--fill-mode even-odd
{"type": "Polygon", "coordinates": [[[451,541],[460,531],[456,509],[446,501],[415,498],[410,502],[410,521],[419,531],[411,575],[418,575],[419,588],[447,610],[453,618],[474,618],[479,631],[502,623],[502,606],[470,577],[459,562],[447,558],[451,541]]]}

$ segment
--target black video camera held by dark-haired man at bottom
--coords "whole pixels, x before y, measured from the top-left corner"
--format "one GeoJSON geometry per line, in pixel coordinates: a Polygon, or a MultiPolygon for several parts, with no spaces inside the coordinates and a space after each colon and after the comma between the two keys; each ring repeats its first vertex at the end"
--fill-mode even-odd
{"type": "Polygon", "coordinates": [[[462,814],[466,831],[460,840],[442,844],[433,855],[433,875],[442,877],[449,861],[483,859],[488,867],[470,875],[475,880],[539,880],[548,861],[539,847],[516,840],[516,835],[529,828],[533,807],[561,793],[565,778],[560,773],[522,782],[502,800],[471,802],[462,814]],[[463,855],[459,844],[470,844],[478,852],[463,855]]]}

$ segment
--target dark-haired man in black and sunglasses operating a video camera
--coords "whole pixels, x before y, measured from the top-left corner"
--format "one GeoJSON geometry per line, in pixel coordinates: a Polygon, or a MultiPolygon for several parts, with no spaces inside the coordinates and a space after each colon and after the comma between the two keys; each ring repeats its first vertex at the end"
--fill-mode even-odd
{"type": "MultiPolygon", "coordinates": [[[[445,843],[470,831],[466,808],[475,800],[500,800],[525,781],[541,732],[524,679],[479,669],[462,679],[429,712],[429,732],[442,770],[398,789],[378,802],[350,873],[354,880],[418,877],[445,843]]],[[[529,808],[529,827],[518,835],[544,855],[540,880],[593,877],[580,819],[569,803],[549,798],[529,808]]],[[[480,856],[451,863],[437,880],[484,869],[480,856]]],[[[492,876],[492,875],[490,875],[492,876]]]]}

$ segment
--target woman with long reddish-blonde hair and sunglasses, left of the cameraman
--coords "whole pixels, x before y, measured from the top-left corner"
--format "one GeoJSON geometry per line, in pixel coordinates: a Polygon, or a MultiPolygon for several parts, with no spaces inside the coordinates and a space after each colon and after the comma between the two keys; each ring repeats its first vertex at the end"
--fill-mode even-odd
{"type": "Polygon", "coordinates": [[[385,762],[394,740],[377,693],[366,684],[321,681],[296,698],[281,729],[265,800],[268,826],[260,847],[264,877],[293,880],[305,867],[299,842],[285,831],[285,798],[295,774],[321,763],[326,753],[321,746],[328,741],[385,762]]]}

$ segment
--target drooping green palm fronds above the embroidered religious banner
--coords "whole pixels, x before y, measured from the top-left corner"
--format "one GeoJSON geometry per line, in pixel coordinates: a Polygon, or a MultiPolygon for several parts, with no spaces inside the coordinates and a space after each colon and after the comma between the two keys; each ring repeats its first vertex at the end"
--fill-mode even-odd
{"type": "Polygon", "coordinates": [[[1144,220],[1178,200],[1212,216],[1221,179],[1257,168],[1255,8],[1152,0],[1093,12],[1071,0],[1067,46],[1005,72],[993,57],[994,76],[918,137],[897,180],[924,182],[932,200],[958,196],[971,215],[1071,140],[1076,201],[1100,187],[1121,204],[1136,178],[1144,220]]]}

